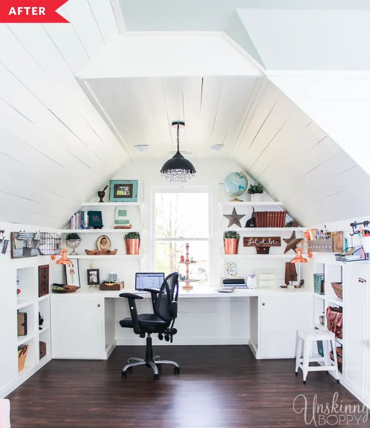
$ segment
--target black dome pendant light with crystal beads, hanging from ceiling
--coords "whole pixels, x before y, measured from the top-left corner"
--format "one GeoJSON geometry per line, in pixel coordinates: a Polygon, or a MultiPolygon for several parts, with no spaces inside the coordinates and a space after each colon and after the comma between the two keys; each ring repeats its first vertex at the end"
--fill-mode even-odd
{"type": "Polygon", "coordinates": [[[172,122],[172,126],[177,126],[177,152],[162,167],[162,177],[167,178],[172,183],[185,183],[194,177],[196,171],[193,164],[185,159],[179,149],[180,125],[185,126],[185,122],[172,122]]]}

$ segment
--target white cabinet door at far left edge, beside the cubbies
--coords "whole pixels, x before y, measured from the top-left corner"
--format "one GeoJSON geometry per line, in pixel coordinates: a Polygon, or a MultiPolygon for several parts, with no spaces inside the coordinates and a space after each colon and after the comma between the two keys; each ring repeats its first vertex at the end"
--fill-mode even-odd
{"type": "Polygon", "coordinates": [[[0,396],[11,387],[17,375],[17,292],[16,279],[0,276],[0,396]]]}

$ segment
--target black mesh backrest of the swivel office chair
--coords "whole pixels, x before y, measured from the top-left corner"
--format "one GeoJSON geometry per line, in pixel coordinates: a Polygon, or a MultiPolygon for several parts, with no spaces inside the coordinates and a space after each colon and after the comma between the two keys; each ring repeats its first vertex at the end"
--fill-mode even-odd
{"type": "Polygon", "coordinates": [[[156,302],[153,302],[154,313],[164,321],[170,322],[177,317],[177,299],[179,297],[179,273],[166,276],[162,283],[156,302]]]}

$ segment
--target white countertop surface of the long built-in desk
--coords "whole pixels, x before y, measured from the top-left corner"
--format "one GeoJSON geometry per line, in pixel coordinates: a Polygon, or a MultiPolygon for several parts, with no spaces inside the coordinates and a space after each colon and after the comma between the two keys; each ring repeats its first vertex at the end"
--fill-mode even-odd
{"type": "MultiPolygon", "coordinates": [[[[67,293],[67,294],[60,294],[60,293],[52,293],[52,296],[58,296],[58,297],[68,297],[68,298],[92,298],[92,297],[104,297],[104,298],[118,298],[121,293],[133,293],[135,294],[135,290],[130,288],[124,288],[120,291],[100,291],[97,288],[89,288],[89,287],[82,287],[80,290],[77,290],[75,293],[67,293]]],[[[313,291],[307,290],[305,288],[302,289],[295,289],[294,287],[289,286],[286,289],[281,289],[280,287],[276,286],[273,288],[257,288],[254,290],[249,289],[241,289],[241,290],[235,290],[233,293],[218,293],[214,288],[212,287],[204,287],[204,286],[195,286],[193,290],[185,291],[182,290],[180,286],[179,290],[179,298],[243,298],[243,297],[264,297],[264,296],[284,296],[287,295],[289,298],[292,296],[303,296],[303,295],[310,295],[313,294],[313,291]]],[[[141,293],[139,294],[144,299],[149,299],[151,297],[150,293],[141,293]]],[[[69,300],[69,299],[68,299],[69,300]]]]}

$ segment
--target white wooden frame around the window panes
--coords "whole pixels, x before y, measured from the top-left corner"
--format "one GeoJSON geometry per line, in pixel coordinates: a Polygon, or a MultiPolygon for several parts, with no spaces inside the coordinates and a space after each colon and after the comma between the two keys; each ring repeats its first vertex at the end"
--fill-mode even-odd
{"type": "MultiPolygon", "coordinates": [[[[156,268],[156,242],[158,241],[208,241],[208,260],[209,260],[209,273],[208,281],[212,281],[212,198],[210,187],[152,187],[152,221],[151,221],[151,241],[152,241],[152,270],[155,272],[156,268]],[[208,194],[208,238],[156,238],[156,194],[157,193],[207,193],[208,194]]],[[[171,272],[168,272],[171,273],[171,272]]],[[[166,274],[166,272],[165,272],[166,274]]]]}

